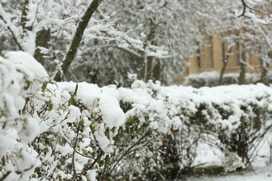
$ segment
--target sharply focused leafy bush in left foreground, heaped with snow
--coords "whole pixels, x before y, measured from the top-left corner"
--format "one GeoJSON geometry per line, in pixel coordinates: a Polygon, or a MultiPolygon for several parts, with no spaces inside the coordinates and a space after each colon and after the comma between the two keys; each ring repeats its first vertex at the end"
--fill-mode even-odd
{"type": "Polygon", "coordinates": [[[125,116],[91,84],[52,83],[24,52],[0,60],[1,180],[95,180],[125,116]]]}

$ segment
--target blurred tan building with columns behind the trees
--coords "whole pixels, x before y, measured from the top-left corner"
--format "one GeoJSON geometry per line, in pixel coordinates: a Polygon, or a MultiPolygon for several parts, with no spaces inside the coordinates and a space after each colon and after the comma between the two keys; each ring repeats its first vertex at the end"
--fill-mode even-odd
{"type": "MultiPolygon", "coordinates": [[[[186,58],[190,63],[182,76],[173,79],[175,82],[183,82],[189,74],[199,74],[207,71],[221,72],[224,61],[227,60],[227,66],[224,73],[239,72],[241,69],[240,60],[242,58],[242,43],[236,42],[229,49],[229,45],[222,42],[221,33],[213,33],[212,36],[205,36],[204,45],[200,46],[197,52],[186,58]]],[[[247,51],[245,61],[247,66],[245,72],[260,73],[262,64],[258,56],[258,46],[247,51]]]]}

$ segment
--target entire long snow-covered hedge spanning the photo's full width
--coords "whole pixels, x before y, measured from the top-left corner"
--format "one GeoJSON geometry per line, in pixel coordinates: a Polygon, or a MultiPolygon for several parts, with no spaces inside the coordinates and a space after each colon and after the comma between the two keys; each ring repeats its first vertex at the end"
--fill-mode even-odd
{"type": "Polygon", "coordinates": [[[9,52],[0,58],[0,180],[181,178],[204,141],[232,155],[229,171],[248,166],[272,125],[271,94],[263,84],[54,82],[33,57],[9,52]]]}

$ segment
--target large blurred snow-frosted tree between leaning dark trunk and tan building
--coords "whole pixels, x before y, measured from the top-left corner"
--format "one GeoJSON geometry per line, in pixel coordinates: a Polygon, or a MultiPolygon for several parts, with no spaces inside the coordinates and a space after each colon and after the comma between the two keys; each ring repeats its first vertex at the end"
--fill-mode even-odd
{"type": "Polygon", "coordinates": [[[211,31],[212,2],[206,6],[200,1],[104,1],[98,18],[110,22],[115,33],[105,29],[96,40],[86,42],[89,46],[82,49],[83,60],[75,68],[83,63],[91,72],[86,77],[105,77],[105,83],[112,83],[112,77],[126,81],[127,72],[167,82],[183,71],[182,58],[197,49],[201,32],[211,31]],[[101,36],[109,38],[101,41],[101,36]]]}

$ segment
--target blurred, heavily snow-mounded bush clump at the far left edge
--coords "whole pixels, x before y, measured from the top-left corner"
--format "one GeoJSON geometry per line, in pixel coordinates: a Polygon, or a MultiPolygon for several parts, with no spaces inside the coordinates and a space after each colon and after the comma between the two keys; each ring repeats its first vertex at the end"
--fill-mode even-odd
{"type": "Polygon", "coordinates": [[[31,143],[43,130],[38,109],[31,109],[33,105],[28,102],[34,97],[43,102],[49,100],[39,91],[45,81],[48,81],[47,72],[33,57],[23,52],[9,52],[6,58],[0,57],[2,180],[29,180],[41,164],[39,153],[33,150],[31,143]]]}

